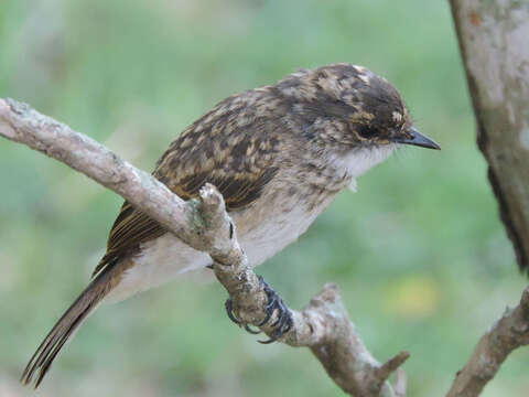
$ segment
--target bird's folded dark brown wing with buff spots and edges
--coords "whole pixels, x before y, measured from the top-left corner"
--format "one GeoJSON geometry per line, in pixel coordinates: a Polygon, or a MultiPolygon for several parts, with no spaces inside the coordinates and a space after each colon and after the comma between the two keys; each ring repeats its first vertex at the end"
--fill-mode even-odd
{"type": "MultiPolygon", "coordinates": [[[[226,99],[184,130],[158,161],[153,176],[181,198],[196,197],[209,182],[223,194],[228,211],[242,208],[259,197],[276,174],[276,153],[281,150],[277,128],[273,122],[261,122],[255,110],[234,108],[233,103],[234,97],[226,99]],[[248,122],[240,122],[241,117],[248,122]]],[[[93,276],[165,233],[158,222],[125,202],[93,276]]]]}

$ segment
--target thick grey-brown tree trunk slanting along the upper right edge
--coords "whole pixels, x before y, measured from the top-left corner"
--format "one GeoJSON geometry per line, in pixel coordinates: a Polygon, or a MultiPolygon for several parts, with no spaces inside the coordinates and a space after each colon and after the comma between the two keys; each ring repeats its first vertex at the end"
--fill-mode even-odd
{"type": "Polygon", "coordinates": [[[521,270],[529,272],[529,2],[451,0],[477,144],[521,270]]]}

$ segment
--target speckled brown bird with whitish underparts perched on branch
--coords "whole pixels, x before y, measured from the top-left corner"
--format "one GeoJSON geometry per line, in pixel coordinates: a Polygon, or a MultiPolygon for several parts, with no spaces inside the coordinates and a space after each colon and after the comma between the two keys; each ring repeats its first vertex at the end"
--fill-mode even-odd
{"type": "MultiPolygon", "coordinates": [[[[153,176],[183,200],[210,183],[223,194],[250,267],[296,240],[337,193],[402,146],[440,149],[414,127],[398,89],[348,63],[299,69],[235,94],[184,129],[153,176]]],[[[212,266],[158,222],[125,202],[91,282],[60,318],[25,367],[35,388],[79,325],[102,302],[127,299],[212,266]]],[[[288,332],[288,308],[261,279],[288,332]]],[[[228,315],[237,321],[230,313],[228,315]]],[[[267,316],[268,320],[270,315],[267,316]]]]}

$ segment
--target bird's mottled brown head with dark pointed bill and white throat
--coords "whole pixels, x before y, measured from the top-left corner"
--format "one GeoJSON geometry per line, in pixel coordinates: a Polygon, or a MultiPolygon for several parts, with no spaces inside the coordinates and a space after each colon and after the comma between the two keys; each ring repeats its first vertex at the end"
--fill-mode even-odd
{"type": "Polygon", "coordinates": [[[402,144],[441,149],[420,133],[400,93],[363,66],[302,69],[277,88],[292,104],[306,139],[357,176],[402,144]]]}

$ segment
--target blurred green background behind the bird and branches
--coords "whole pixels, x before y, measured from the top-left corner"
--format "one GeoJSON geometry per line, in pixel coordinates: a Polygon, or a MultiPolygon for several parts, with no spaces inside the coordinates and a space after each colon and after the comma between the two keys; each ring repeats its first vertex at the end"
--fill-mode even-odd
{"type": "MultiPolygon", "coordinates": [[[[152,170],[224,97],[299,67],[368,66],[443,150],[409,148],[258,269],[292,308],[337,281],[379,360],[408,350],[409,396],[441,396],[526,280],[498,219],[446,1],[3,0],[0,97],[152,170]]],[[[0,396],[88,281],[121,198],[0,140],[0,396]]],[[[37,396],[339,396],[306,350],[233,325],[217,283],[176,281],[102,307],[37,396]]],[[[526,396],[527,350],[484,396],[526,396]]]]}

